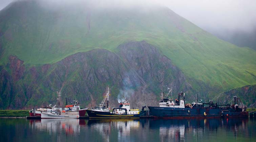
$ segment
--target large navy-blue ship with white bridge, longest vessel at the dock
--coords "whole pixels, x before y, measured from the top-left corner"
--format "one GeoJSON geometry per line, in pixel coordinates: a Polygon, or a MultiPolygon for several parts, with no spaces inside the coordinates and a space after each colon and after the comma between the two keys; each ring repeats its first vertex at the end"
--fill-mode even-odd
{"type": "Polygon", "coordinates": [[[169,93],[160,101],[159,107],[148,106],[149,115],[157,118],[221,118],[221,117],[248,117],[246,106],[239,107],[237,97],[235,96],[235,105],[229,104],[217,105],[212,101],[208,103],[192,103],[185,105],[185,93],[178,94],[178,100],[170,99],[169,93]],[[169,98],[168,98],[169,97],[169,98]],[[208,106],[206,106],[208,105],[208,106]],[[224,106],[224,107],[223,107],[224,106]]]}

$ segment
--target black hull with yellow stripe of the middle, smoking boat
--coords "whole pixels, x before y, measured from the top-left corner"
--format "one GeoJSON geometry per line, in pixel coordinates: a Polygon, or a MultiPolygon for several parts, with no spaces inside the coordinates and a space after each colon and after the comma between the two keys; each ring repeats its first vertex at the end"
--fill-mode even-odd
{"type": "Polygon", "coordinates": [[[89,118],[112,118],[112,119],[138,119],[140,118],[140,114],[113,114],[111,112],[102,112],[102,111],[93,111],[93,110],[87,110],[86,111],[89,118]]]}

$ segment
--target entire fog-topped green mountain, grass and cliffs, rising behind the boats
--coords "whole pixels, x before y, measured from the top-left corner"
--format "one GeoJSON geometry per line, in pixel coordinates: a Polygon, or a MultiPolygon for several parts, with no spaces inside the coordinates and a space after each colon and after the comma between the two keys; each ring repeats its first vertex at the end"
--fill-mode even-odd
{"type": "MultiPolygon", "coordinates": [[[[54,95],[53,91],[65,87],[70,87],[65,90],[67,94],[80,92],[79,99],[87,98],[82,99],[84,105],[92,102],[94,105],[101,100],[102,97],[97,94],[102,94],[107,84],[115,86],[112,89],[116,94],[122,92],[126,86],[123,82],[126,74],[129,74],[129,79],[140,80],[139,85],[128,85],[129,89],[135,90],[134,98],[143,96],[139,93],[143,90],[142,86],[144,90],[150,88],[148,93],[151,94],[151,98],[158,97],[161,90],[170,83],[176,84],[175,92],[182,89],[188,93],[204,92],[205,97],[208,97],[208,94],[217,95],[256,82],[255,50],[240,48],[220,40],[166,7],[127,6],[121,3],[109,5],[101,0],[63,3],[17,1],[0,11],[0,108],[23,108],[32,104],[47,103],[50,99],[56,98],[50,97],[49,94],[54,95]],[[129,46],[130,52],[122,54],[120,47],[126,44],[134,47],[129,46]],[[148,63],[147,58],[143,60],[145,55],[142,54],[133,59],[136,52],[132,51],[141,52],[138,47],[155,48],[154,53],[166,57],[168,60],[163,62],[170,62],[175,69],[171,66],[169,69],[163,68],[164,63],[156,60],[150,60],[148,63]],[[89,77],[85,76],[88,69],[82,68],[85,63],[72,62],[70,67],[65,65],[65,59],[73,59],[78,53],[91,53],[93,49],[106,49],[113,56],[118,56],[116,61],[120,64],[104,61],[110,60],[111,57],[99,58],[113,67],[109,69],[102,65],[101,69],[113,72],[116,70],[115,66],[118,66],[119,71],[116,74],[120,77],[106,77],[107,74],[97,76],[96,72],[89,77]],[[130,54],[130,58],[127,54],[130,54]],[[137,64],[133,65],[130,62],[137,64]],[[144,71],[138,66],[141,64],[145,64],[144,71]],[[76,70],[73,70],[73,67],[76,70]],[[54,72],[57,68],[62,68],[63,72],[66,72],[54,72]],[[72,72],[67,69],[71,69],[72,72]],[[37,73],[33,74],[33,70],[37,73]],[[149,71],[151,78],[145,75],[149,71]],[[162,78],[156,77],[159,74],[162,78]],[[90,84],[84,82],[91,81],[87,80],[91,78],[98,81],[88,87],[90,84]],[[177,81],[177,78],[183,79],[177,81]],[[80,82],[77,82],[78,79],[80,82]],[[165,81],[168,79],[169,82],[165,81]],[[52,86],[49,83],[37,82],[45,80],[51,82],[52,86]],[[80,91],[76,89],[77,85],[80,85],[80,91]],[[82,88],[88,88],[87,92],[82,93],[82,88]],[[38,94],[40,95],[37,96],[38,94]]],[[[99,53],[95,54],[95,57],[90,57],[95,61],[95,64],[91,65],[93,70],[99,68],[101,61],[96,58],[99,53]]],[[[150,59],[159,59],[153,58],[153,55],[146,56],[152,56],[150,59]]]]}

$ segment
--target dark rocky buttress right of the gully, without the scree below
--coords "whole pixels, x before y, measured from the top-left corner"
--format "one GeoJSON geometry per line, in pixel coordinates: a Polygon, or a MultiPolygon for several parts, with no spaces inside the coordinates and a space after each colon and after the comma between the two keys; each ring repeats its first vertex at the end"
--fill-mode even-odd
{"type": "Polygon", "coordinates": [[[168,59],[159,53],[155,47],[142,42],[132,42],[119,46],[120,57],[147,83],[150,90],[165,90],[173,86],[178,93],[180,90],[191,90],[184,74],[168,59]],[[154,87],[158,84],[157,88],[154,87]],[[183,86],[184,85],[184,86],[183,86]],[[158,87],[161,88],[158,88],[158,87]]]}

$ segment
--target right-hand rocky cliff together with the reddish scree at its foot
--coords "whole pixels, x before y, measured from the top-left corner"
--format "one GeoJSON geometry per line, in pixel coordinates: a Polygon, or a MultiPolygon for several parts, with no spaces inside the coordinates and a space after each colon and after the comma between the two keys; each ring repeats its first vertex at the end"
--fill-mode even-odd
{"type": "Polygon", "coordinates": [[[118,54],[128,66],[129,72],[135,72],[142,80],[140,89],[132,97],[132,102],[135,102],[136,107],[157,106],[161,92],[167,91],[167,88],[171,86],[174,90],[174,97],[179,91],[192,90],[184,74],[171,60],[145,41],[122,44],[118,49],[118,54]]]}

